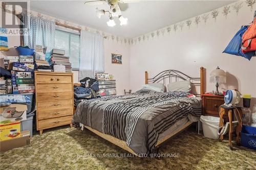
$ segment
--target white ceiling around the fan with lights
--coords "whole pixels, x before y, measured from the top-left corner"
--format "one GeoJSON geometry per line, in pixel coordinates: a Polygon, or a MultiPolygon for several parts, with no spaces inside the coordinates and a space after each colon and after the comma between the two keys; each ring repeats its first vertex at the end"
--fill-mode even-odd
{"type": "Polygon", "coordinates": [[[129,4],[122,12],[128,18],[125,26],[108,27],[108,15],[97,18],[95,9],[108,9],[108,5],[84,5],[85,1],[31,1],[33,11],[101,30],[116,36],[133,38],[173,25],[174,23],[209,12],[236,1],[143,1],[129,4]]]}

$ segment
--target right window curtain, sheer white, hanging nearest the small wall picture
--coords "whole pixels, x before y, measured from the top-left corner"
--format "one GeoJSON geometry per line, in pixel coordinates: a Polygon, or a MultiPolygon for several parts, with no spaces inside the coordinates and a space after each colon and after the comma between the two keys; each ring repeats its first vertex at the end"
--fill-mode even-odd
{"type": "Polygon", "coordinates": [[[88,31],[80,32],[79,80],[104,72],[103,37],[88,31]]]}

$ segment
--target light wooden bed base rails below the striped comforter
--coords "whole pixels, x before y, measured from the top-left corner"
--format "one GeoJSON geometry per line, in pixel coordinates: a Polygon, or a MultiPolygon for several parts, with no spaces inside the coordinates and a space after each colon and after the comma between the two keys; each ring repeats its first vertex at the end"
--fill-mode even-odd
{"type": "MultiPolygon", "coordinates": [[[[160,139],[157,141],[157,144],[156,144],[156,148],[159,148],[160,145],[170,139],[171,137],[179,134],[180,132],[182,132],[183,130],[187,129],[189,126],[191,126],[193,124],[193,122],[187,122],[185,125],[183,125],[182,127],[179,127],[178,129],[176,129],[175,131],[173,131],[172,133],[168,134],[167,136],[165,136],[163,139],[160,139]]],[[[103,139],[105,140],[108,140],[110,141],[111,143],[117,145],[118,147],[124,149],[125,151],[128,151],[130,152],[131,154],[134,154],[134,155],[137,155],[131,148],[129,148],[127,145],[126,145],[126,142],[124,140],[120,140],[118,138],[115,138],[111,135],[108,135],[108,134],[103,134],[95,129],[92,129],[88,126],[84,126],[85,128],[87,128],[88,130],[92,131],[93,133],[95,133],[96,135],[102,137],[103,139]]],[[[139,155],[137,155],[139,156],[139,155]]]]}

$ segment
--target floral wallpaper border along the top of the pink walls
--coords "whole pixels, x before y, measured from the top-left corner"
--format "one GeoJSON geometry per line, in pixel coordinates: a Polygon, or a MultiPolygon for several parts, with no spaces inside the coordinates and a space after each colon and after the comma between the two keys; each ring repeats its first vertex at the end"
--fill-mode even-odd
{"type": "Polygon", "coordinates": [[[198,28],[200,22],[203,22],[205,25],[207,24],[208,19],[214,19],[214,21],[216,22],[218,17],[220,17],[221,15],[225,16],[225,18],[227,19],[228,14],[231,13],[231,12],[236,12],[236,14],[238,15],[239,10],[242,7],[247,7],[252,11],[253,6],[255,5],[255,1],[256,0],[238,1],[238,2],[235,2],[235,3],[229,4],[229,5],[226,5],[224,7],[221,7],[219,9],[212,10],[212,11],[207,12],[205,14],[198,15],[198,16],[195,16],[193,18],[189,18],[185,21],[181,21],[181,22],[175,23],[173,25],[164,27],[162,29],[152,31],[152,32],[144,34],[144,35],[140,35],[140,36],[135,37],[135,38],[119,37],[119,36],[112,35],[112,34],[109,34],[109,33],[106,33],[106,32],[100,31],[100,30],[89,28],[87,26],[78,25],[78,24],[73,23],[73,22],[69,22],[69,21],[66,21],[66,20],[55,18],[53,16],[49,16],[49,15],[42,14],[42,13],[32,11],[32,10],[30,11],[30,15],[37,16],[37,17],[42,17],[42,18],[48,19],[48,20],[55,20],[56,22],[59,22],[59,23],[62,23],[62,24],[65,24],[65,25],[68,25],[68,26],[71,26],[71,27],[76,27],[76,28],[80,28],[82,30],[86,30],[86,31],[90,31],[90,32],[93,32],[93,33],[96,33],[96,34],[100,34],[107,40],[112,40],[112,41],[116,41],[117,43],[129,44],[130,45],[130,44],[140,43],[141,41],[145,41],[145,40],[148,41],[151,38],[154,39],[155,36],[157,36],[157,37],[159,37],[160,35],[164,36],[165,33],[169,34],[171,31],[173,31],[173,32],[181,31],[182,32],[182,30],[185,27],[190,29],[191,25],[196,25],[197,28],[198,28]]]}

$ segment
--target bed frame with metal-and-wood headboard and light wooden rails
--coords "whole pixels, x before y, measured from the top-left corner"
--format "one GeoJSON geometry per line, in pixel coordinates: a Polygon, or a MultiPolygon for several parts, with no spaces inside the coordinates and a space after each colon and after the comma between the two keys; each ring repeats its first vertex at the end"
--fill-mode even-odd
{"type": "MultiPolygon", "coordinates": [[[[148,75],[147,75],[147,71],[145,71],[145,84],[148,83],[148,81],[151,81],[151,82],[156,82],[158,81],[159,79],[164,79],[165,78],[169,78],[170,77],[175,77],[176,80],[177,78],[180,78],[180,79],[183,79],[183,80],[190,80],[190,81],[199,81],[200,83],[193,83],[192,84],[195,84],[195,85],[200,85],[200,95],[202,95],[204,93],[204,67],[200,67],[200,78],[192,78],[192,77],[189,77],[185,74],[183,74],[182,72],[180,71],[177,71],[177,70],[165,70],[165,71],[162,71],[160,72],[160,74],[158,74],[156,77],[152,78],[152,79],[148,79],[148,75]]],[[[163,143],[164,141],[170,139],[171,137],[179,134],[180,132],[182,132],[183,130],[187,129],[189,126],[191,126],[193,124],[193,122],[187,122],[185,125],[183,125],[182,127],[179,127],[178,129],[176,129],[175,131],[173,131],[172,133],[168,134],[167,136],[165,136],[163,139],[160,139],[157,141],[157,144],[156,144],[156,150],[158,152],[158,148],[160,146],[161,143],[163,143]]],[[[92,131],[93,133],[97,134],[98,136],[110,141],[111,143],[117,145],[118,147],[132,153],[132,154],[135,154],[137,155],[132,149],[130,149],[127,145],[126,145],[126,142],[123,141],[123,140],[120,140],[118,138],[115,138],[111,135],[108,135],[108,134],[103,134],[95,129],[92,129],[88,126],[84,126],[85,128],[87,128],[88,130],[92,131]]],[[[138,156],[138,155],[137,155],[138,156]]]]}

